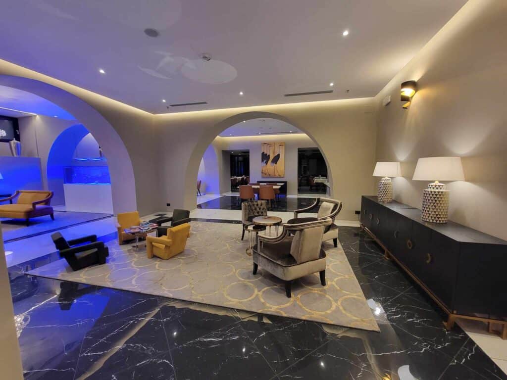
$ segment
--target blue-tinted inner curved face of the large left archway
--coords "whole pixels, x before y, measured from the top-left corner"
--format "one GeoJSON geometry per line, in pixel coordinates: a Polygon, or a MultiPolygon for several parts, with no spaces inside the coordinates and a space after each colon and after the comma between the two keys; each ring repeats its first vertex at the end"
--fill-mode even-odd
{"type": "Polygon", "coordinates": [[[115,214],[136,208],[134,171],[128,151],[116,130],[101,113],[78,96],[41,81],[0,75],[0,85],[45,98],[70,112],[86,126],[108,157],[115,214]]]}

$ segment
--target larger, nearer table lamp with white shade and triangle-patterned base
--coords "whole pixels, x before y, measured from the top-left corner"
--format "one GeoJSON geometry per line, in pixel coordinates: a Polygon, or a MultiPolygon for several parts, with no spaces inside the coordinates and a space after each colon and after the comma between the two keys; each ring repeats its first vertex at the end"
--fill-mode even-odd
{"type": "Polygon", "coordinates": [[[464,181],[460,157],[426,157],[417,160],[414,181],[431,181],[422,195],[421,219],[433,223],[447,223],[449,191],[439,181],[464,181]]]}

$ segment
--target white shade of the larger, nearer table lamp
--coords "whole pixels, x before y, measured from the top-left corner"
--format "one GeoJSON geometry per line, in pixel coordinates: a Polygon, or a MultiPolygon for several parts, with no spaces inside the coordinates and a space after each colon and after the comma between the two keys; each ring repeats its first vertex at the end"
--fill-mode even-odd
{"type": "Polygon", "coordinates": [[[417,160],[414,181],[464,181],[461,157],[425,157],[417,160]]]}

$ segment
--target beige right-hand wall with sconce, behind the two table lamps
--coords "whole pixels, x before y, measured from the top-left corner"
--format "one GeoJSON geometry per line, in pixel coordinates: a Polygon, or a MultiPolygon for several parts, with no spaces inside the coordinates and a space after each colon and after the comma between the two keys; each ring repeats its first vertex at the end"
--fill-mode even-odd
{"type": "Polygon", "coordinates": [[[401,161],[394,198],[420,208],[427,183],[412,181],[420,157],[461,156],[466,182],[452,182],[450,219],[507,239],[507,2],[467,3],[379,93],[377,160],[401,161]],[[400,84],[418,81],[403,110],[400,84]]]}

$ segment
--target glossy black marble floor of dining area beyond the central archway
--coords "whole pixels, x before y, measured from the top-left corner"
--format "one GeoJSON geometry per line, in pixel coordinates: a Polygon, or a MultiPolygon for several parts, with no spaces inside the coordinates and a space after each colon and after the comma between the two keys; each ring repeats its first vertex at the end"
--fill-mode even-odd
{"type": "MultiPolygon", "coordinates": [[[[315,198],[319,197],[318,195],[315,198]]],[[[315,198],[295,198],[280,195],[279,199],[272,202],[268,207],[269,211],[288,211],[292,212],[297,209],[311,206],[315,202],[315,198]]],[[[222,196],[208,202],[197,205],[201,209],[220,209],[220,210],[241,210],[241,198],[236,196],[222,196]]],[[[315,208],[312,212],[317,212],[315,208]]]]}

